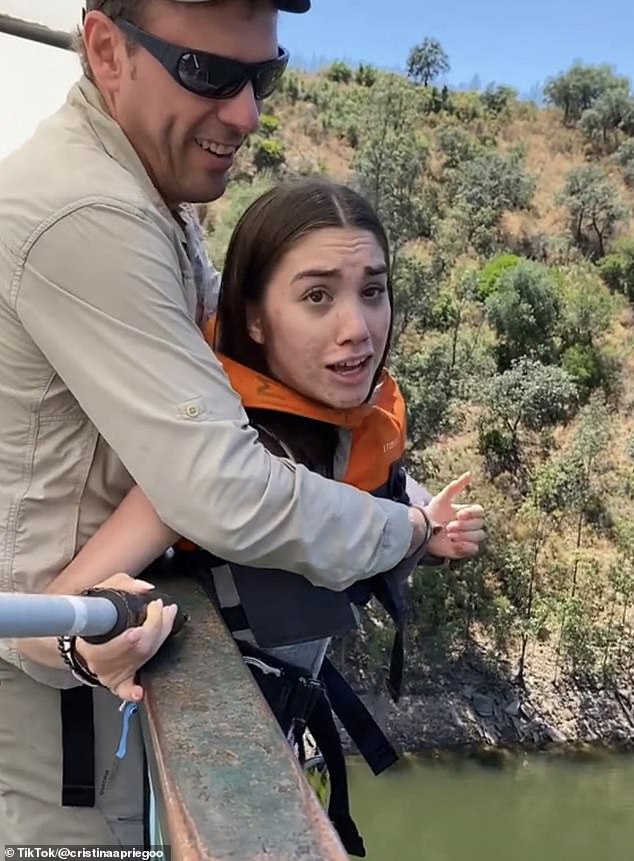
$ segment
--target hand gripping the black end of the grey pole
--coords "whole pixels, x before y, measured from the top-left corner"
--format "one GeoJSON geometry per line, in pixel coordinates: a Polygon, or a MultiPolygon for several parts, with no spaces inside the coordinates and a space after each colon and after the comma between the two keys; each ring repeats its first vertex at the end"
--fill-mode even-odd
{"type": "MultiPolygon", "coordinates": [[[[99,583],[98,587],[137,594],[154,588],[151,583],[127,574],[115,574],[99,583]]],[[[113,640],[99,645],[78,637],[77,652],[104,687],[122,700],[138,703],[143,699],[143,688],[135,682],[136,673],[167,639],[176,611],[176,604],[164,607],[160,599],[152,601],[148,604],[143,625],[129,628],[113,640]]]]}

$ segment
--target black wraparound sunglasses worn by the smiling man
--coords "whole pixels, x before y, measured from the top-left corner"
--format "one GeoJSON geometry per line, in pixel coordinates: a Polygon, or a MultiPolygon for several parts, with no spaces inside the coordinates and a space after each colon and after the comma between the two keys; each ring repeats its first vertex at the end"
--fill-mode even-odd
{"type": "Polygon", "coordinates": [[[177,83],[190,93],[208,99],[232,99],[251,82],[255,98],[262,101],[273,93],[288,65],[288,52],[281,47],[274,60],[242,63],[232,57],[221,57],[166,42],[125,18],[116,18],[114,23],[134,42],[149,51],[177,83]]]}

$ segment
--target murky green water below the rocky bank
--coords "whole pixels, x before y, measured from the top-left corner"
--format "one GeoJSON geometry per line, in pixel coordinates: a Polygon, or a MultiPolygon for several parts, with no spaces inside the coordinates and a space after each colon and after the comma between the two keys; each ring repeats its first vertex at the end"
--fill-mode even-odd
{"type": "Polygon", "coordinates": [[[367,861],[634,861],[634,756],[349,766],[367,861]]]}

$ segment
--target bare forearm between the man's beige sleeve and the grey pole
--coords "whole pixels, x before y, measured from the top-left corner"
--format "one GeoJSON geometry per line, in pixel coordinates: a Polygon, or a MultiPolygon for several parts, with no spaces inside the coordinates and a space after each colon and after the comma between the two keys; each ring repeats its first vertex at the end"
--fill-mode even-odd
{"type": "Polygon", "coordinates": [[[79,594],[119,571],[136,577],[178,538],[159,520],[143,491],[133,487],[45,591],[57,595],[79,594]]]}

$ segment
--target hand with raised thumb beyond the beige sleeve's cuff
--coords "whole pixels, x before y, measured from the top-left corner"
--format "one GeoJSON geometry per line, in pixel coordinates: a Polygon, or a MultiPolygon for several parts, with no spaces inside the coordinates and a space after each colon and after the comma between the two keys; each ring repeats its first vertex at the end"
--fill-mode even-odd
{"type": "Polygon", "coordinates": [[[436,494],[424,511],[440,531],[434,535],[427,550],[434,556],[465,559],[475,556],[486,538],[484,509],[481,505],[461,505],[454,502],[469,485],[471,474],[465,472],[436,494]]]}

